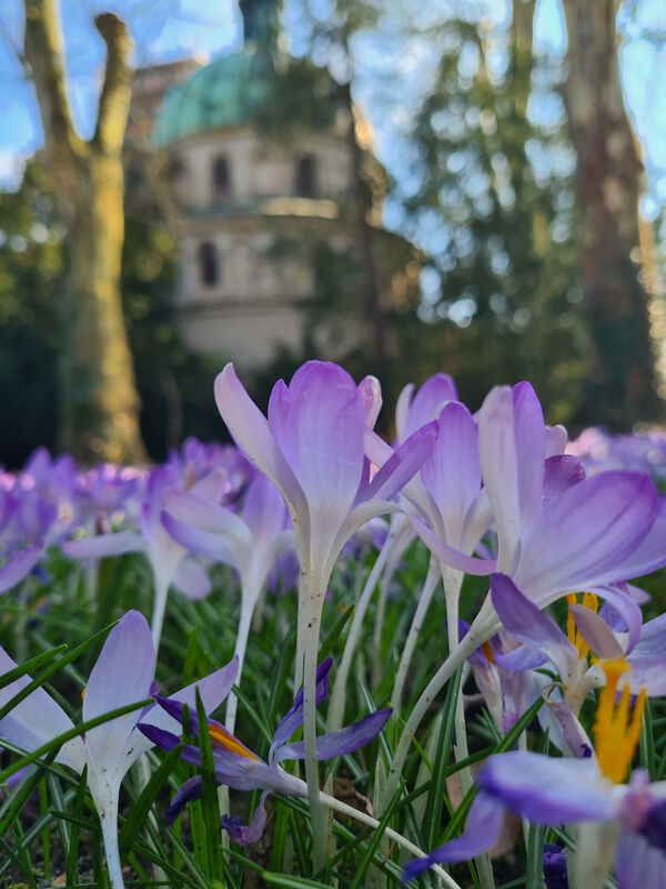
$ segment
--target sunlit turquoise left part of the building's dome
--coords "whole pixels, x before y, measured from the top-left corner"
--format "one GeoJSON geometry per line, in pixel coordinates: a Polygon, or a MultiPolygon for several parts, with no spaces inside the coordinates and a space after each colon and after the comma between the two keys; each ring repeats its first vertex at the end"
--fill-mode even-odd
{"type": "Polygon", "coordinates": [[[270,100],[274,77],[266,53],[245,48],[221,56],[169,90],[155,120],[153,144],[163,148],[193,133],[252,121],[270,100]]]}

